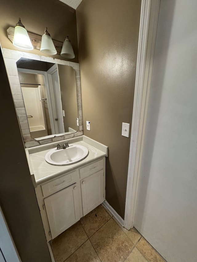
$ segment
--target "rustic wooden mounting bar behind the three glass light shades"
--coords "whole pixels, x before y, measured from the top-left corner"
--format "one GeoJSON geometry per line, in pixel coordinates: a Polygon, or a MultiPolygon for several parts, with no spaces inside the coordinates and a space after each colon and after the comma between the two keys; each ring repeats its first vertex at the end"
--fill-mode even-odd
{"type": "MultiPolygon", "coordinates": [[[[28,35],[29,35],[29,37],[30,37],[30,40],[31,40],[31,43],[32,43],[34,49],[40,50],[42,36],[37,35],[37,34],[33,34],[33,33],[29,33],[29,32],[28,32],[28,35]]],[[[11,27],[11,26],[10,26],[10,27],[7,29],[7,36],[8,36],[8,38],[10,39],[10,41],[13,42],[13,38],[14,38],[14,27],[11,27]]],[[[63,45],[63,43],[62,43],[62,42],[59,42],[59,41],[55,41],[55,40],[53,40],[53,43],[54,43],[55,49],[57,50],[57,54],[60,55],[60,54],[61,54],[61,51],[62,51],[62,45],[63,45]]]]}

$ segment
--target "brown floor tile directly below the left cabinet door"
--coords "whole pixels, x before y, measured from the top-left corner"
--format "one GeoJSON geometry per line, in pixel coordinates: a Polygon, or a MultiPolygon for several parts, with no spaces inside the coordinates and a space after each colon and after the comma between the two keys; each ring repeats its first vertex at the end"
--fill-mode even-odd
{"type": "Polygon", "coordinates": [[[88,239],[80,222],[51,241],[55,262],[62,262],[88,239]]]}

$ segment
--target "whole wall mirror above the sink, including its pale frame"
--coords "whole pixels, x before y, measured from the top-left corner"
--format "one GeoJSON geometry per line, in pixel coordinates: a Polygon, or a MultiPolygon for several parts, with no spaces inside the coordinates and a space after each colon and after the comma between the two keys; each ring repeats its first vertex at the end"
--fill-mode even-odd
{"type": "Polygon", "coordinates": [[[3,56],[25,146],[82,135],[78,63],[9,49],[3,56]]]}

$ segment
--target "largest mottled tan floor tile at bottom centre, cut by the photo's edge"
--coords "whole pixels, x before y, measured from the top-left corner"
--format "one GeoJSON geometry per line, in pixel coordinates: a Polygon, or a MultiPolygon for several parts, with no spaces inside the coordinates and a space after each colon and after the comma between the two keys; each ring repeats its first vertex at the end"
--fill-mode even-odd
{"type": "Polygon", "coordinates": [[[90,241],[102,262],[122,262],[134,246],[112,218],[90,237],[90,241]]]}

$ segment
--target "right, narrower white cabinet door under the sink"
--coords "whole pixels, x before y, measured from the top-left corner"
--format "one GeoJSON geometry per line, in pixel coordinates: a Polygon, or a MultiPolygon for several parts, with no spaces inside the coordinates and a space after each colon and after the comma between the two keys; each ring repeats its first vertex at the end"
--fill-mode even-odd
{"type": "Polygon", "coordinates": [[[103,170],[81,180],[84,216],[104,201],[103,186],[103,170]]]}

